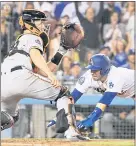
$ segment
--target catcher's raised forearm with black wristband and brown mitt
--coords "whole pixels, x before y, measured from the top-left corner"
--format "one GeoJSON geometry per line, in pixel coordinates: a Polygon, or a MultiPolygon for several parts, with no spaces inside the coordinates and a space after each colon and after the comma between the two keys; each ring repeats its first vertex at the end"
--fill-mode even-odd
{"type": "MultiPolygon", "coordinates": [[[[58,37],[60,37],[58,35],[58,37]]],[[[79,24],[68,23],[62,28],[61,37],[57,40],[52,40],[52,48],[59,46],[57,53],[53,56],[51,61],[48,63],[49,68],[55,71],[63,55],[66,54],[67,50],[75,49],[84,38],[84,30],[79,24]],[[55,42],[53,42],[55,41],[55,42]],[[60,45],[61,44],[61,45],[60,45]]]]}

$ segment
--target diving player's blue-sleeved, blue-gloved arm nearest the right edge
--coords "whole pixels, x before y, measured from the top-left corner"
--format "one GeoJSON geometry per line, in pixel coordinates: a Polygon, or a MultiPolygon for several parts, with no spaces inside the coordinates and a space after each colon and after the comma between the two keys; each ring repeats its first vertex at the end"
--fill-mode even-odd
{"type": "Polygon", "coordinates": [[[116,95],[116,92],[105,92],[103,97],[97,103],[94,111],[85,120],[79,122],[77,127],[79,129],[87,129],[88,127],[91,127],[94,122],[100,118],[102,112],[106,109],[106,107],[111,104],[116,95]]]}

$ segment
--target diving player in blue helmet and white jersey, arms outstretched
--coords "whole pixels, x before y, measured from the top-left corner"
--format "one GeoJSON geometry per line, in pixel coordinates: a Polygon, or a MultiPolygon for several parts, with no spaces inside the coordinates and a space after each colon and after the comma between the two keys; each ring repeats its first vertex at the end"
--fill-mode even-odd
{"type": "MultiPolygon", "coordinates": [[[[87,71],[79,78],[71,93],[76,102],[89,88],[102,93],[103,96],[96,104],[94,111],[83,121],[77,123],[79,131],[87,130],[97,121],[102,112],[116,97],[135,98],[134,70],[111,65],[110,60],[103,54],[96,54],[90,59],[87,71]]],[[[53,123],[55,124],[55,122],[53,123]]],[[[50,123],[49,126],[52,124],[50,123]]]]}

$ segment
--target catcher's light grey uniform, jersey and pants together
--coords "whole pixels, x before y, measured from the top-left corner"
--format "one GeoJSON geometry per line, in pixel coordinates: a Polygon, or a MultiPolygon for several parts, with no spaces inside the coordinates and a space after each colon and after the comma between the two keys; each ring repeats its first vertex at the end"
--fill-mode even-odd
{"type": "MultiPolygon", "coordinates": [[[[40,37],[32,34],[21,36],[15,43],[15,50],[37,48],[43,52],[43,42],[40,37]],[[17,48],[16,48],[17,47],[17,48]]],[[[18,113],[18,102],[23,98],[54,100],[60,92],[50,84],[48,78],[33,73],[30,57],[15,53],[4,59],[1,68],[1,111],[7,111],[15,116],[18,113]],[[23,66],[22,69],[11,69],[23,66]]]]}

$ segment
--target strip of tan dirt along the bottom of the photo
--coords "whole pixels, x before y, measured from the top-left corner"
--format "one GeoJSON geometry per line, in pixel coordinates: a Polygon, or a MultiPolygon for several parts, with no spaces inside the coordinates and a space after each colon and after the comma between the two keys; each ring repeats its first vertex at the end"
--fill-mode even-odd
{"type": "Polygon", "coordinates": [[[134,146],[134,140],[90,140],[71,142],[60,139],[2,139],[1,146],[134,146]]]}

